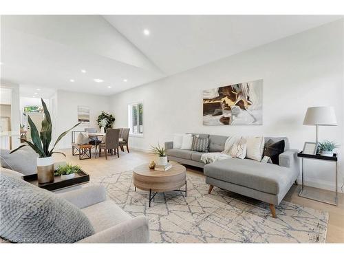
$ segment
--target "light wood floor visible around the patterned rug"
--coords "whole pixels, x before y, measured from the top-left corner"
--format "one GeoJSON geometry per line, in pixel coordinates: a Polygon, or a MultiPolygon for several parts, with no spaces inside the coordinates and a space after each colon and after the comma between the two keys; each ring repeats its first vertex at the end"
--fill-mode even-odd
{"type": "MultiPolygon", "coordinates": [[[[107,160],[105,160],[104,153],[100,158],[97,157],[95,159],[94,153],[92,153],[92,159],[78,160],[78,156],[71,155],[71,149],[65,149],[62,151],[67,155],[67,158],[63,157],[63,155],[56,154],[54,155],[56,162],[66,161],[71,164],[78,164],[87,173],[89,173],[91,177],[110,175],[118,171],[129,171],[135,166],[155,160],[154,156],[140,151],[131,151],[130,153],[120,151],[120,158],[117,158],[117,155],[109,155],[107,160]]],[[[187,173],[193,173],[194,175],[204,176],[201,169],[196,169],[191,166],[188,166],[186,171],[187,173]]],[[[339,194],[338,206],[333,206],[299,197],[299,189],[300,186],[292,186],[284,200],[317,210],[327,210],[330,217],[327,227],[326,242],[344,243],[344,195],[339,194]]],[[[323,194],[329,194],[328,191],[321,190],[321,192],[323,194]]]]}

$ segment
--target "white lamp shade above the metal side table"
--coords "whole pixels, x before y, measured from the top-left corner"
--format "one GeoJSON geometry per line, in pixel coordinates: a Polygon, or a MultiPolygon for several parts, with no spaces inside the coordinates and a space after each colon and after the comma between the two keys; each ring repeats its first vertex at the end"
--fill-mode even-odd
{"type": "Polygon", "coordinates": [[[334,107],[308,107],[303,125],[337,125],[334,107]]]}

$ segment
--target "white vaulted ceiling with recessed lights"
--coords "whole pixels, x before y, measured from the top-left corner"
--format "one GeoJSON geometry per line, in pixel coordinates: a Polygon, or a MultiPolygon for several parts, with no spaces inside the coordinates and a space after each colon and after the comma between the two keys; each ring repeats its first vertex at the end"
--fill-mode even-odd
{"type": "Polygon", "coordinates": [[[1,16],[1,78],[111,95],[341,18],[1,16]]]}

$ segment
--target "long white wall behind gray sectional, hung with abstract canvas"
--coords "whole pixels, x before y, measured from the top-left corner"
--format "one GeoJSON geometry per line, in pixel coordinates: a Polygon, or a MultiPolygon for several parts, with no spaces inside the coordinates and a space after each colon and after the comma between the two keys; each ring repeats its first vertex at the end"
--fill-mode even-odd
{"type": "MultiPolygon", "coordinates": [[[[307,107],[332,105],[338,127],[321,127],[320,136],[336,140],[343,153],[343,39],[343,21],[336,21],[116,94],[115,126],[127,127],[127,105],[143,100],[144,137],[131,137],[131,147],[148,149],[173,133],[195,132],[287,136],[293,149],[302,149],[303,142],[315,140],[315,127],[302,125],[307,107]],[[257,79],[264,80],[263,125],[202,125],[203,89],[257,79]]],[[[332,167],[310,165],[308,184],[333,189],[332,167]]]]}

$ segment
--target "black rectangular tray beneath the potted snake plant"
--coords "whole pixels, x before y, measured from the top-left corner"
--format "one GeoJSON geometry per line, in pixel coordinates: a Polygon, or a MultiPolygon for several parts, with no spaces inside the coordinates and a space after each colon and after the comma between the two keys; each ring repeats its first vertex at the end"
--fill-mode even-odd
{"type": "Polygon", "coordinates": [[[23,180],[40,188],[47,189],[48,191],[56,191],[66,187],[76,186],[78,184],[85,184],[89,182],[89,174],[81,170],[80,172],[75,174],[74,178],[68,180],[61,180],[61,177],[59,175],[55,175],[54,182],[45,184],[39,184],[37,174],[24,175],[23,180]]]}

